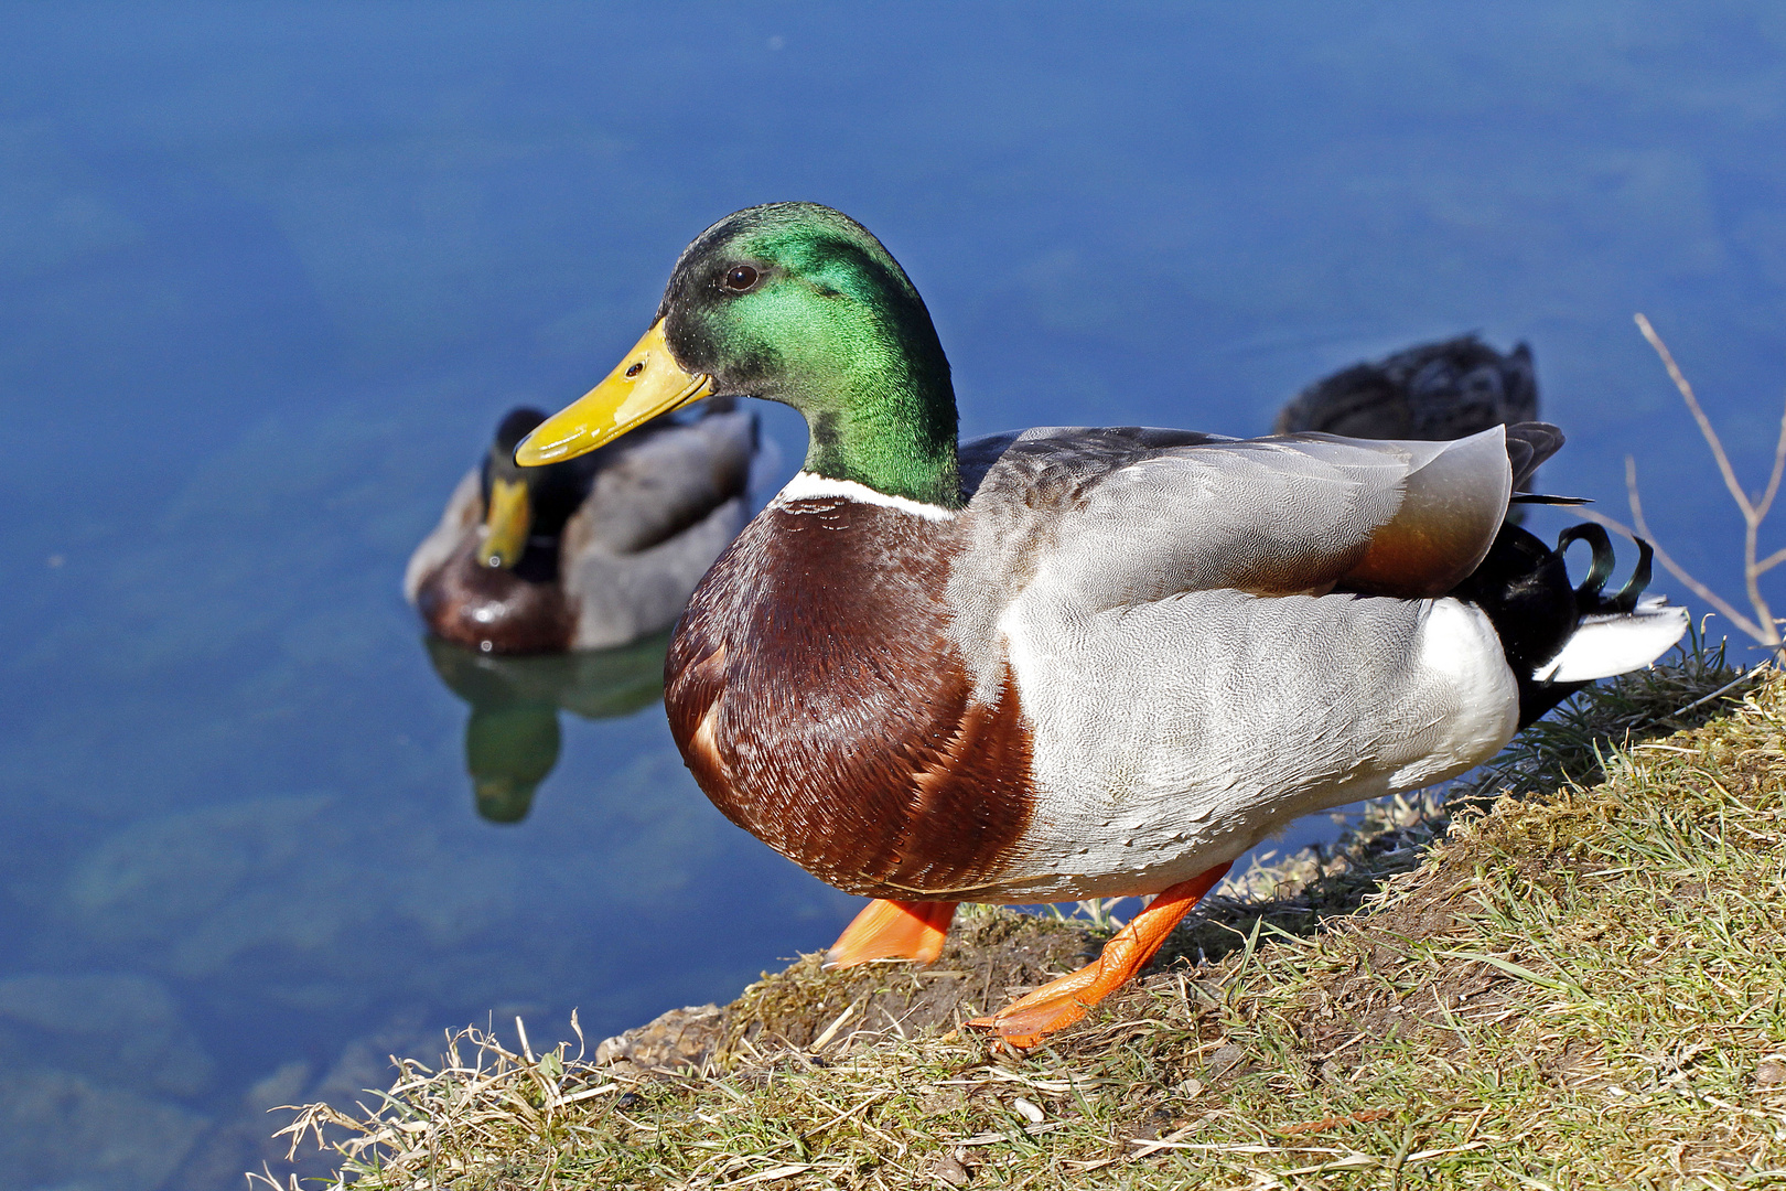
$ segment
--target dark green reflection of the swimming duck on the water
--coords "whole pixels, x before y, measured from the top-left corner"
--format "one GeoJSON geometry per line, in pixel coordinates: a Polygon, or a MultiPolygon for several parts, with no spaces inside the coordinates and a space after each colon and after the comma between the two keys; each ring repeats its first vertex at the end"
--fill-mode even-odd
{"type": "Polygon", "coordinates": [[[477,812],[520,823],[559,755],[559,709],[584,720],[627,716],[663,698],[664,650],[657,632],[614,650],[504,657],[425,637],[434,673],[472,707],[464,768],[477,812]]]}

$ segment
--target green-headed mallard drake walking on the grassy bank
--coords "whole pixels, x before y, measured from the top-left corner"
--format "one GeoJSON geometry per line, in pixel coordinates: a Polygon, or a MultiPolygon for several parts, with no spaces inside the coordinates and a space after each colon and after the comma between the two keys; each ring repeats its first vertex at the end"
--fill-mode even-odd
{"type": "Polygon", "coordinates": [[[923,300],[813,204],[697,237],[638,346],[516,457],[707,393],[793,405],[811,446],[695,591],[664,705],[720,811],[875,898],[830,962],[932,961],[957,902],[1154,895],[1097,962],[975,1021],[1013,1045],[1129,980],[1284,821],[1463,773],[1686,629],[1640,602],[1643,568],[1602,593],[1604,537],[1570,587],[1504,527],[1561,446],[1541,423],[957,443],[923,300]]]}

